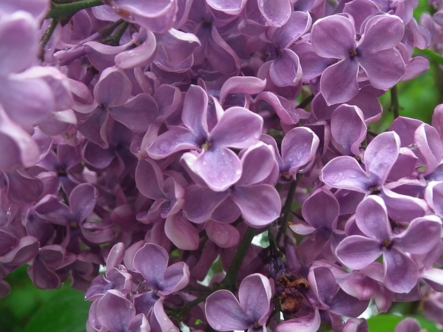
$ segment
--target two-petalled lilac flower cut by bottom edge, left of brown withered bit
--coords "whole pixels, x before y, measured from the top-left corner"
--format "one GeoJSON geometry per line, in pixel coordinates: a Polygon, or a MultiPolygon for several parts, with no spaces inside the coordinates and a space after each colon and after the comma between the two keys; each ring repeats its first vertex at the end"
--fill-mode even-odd
{"type": "Polygon", "coordinates": [[[209,295],[205,312],[210,326],[216,331],[266,332],[271,302],[269,280],[260,273],[248,275],[239,286],[238,298],[226,289],[209,295]]]}

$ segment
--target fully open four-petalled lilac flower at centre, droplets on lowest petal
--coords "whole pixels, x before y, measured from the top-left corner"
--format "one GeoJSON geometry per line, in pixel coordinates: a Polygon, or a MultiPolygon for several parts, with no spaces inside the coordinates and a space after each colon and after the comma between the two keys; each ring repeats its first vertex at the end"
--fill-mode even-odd
{"type": "Polygon", "coordinates": [[[151,158],[161,159],[183,149],[201,151],[183,159],[215,191],[224,191],[238,181],[242,167],[228,147],[244,149],[260,138],[263,120],[243,107],[230,107],[215,127],[208,127],[208,96],[199,86],[191,86],[183,104],[184,127],[172,127],[162,133],[148,149],[151,158]]]}

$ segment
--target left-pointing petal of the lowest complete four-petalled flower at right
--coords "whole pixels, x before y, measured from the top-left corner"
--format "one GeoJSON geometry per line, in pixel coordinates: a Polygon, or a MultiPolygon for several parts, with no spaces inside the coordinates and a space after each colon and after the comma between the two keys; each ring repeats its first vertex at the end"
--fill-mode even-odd
{"type": "Polygon", "coordinates": [[[346,237],[336,248],[336,255],[348,268],[361,270],[382,254],[381,243],[361,235],[346,237]]]}

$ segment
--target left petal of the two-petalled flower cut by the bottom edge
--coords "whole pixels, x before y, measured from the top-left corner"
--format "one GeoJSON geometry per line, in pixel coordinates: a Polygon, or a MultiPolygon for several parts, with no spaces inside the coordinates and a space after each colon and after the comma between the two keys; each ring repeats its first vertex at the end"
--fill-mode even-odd
{"type": "Polygon", "coordinates": [[[206,320],[217,331],[246,330],[254,323],[246,316],[233,293],[225,289],[208,296],[205,313],[206,320]]]}

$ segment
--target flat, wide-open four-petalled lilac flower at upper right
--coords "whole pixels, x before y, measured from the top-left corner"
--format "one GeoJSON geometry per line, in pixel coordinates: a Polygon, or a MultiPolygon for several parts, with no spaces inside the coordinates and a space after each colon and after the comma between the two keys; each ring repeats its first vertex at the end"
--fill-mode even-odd
{"type": "Polygon", "coordinates": [[[406,73],[406,66],[395,46],[401,42],[404,25],[391,15],[368,19],[359,42],[351,19],[332,15],[312,27],[311,42],[320,57],[338,59],[323,71],[320,90],[327,104],[347,102],[359,92],[360,67],[376,89],[388,90],[406,73]],[[337,39],[336,36],[341,36],[337,39]]]}

